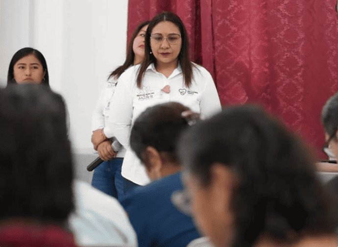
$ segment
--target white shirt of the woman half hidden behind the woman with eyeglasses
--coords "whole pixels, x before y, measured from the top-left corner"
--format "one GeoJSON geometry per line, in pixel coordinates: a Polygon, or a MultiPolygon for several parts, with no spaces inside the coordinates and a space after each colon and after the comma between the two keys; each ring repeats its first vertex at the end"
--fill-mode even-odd
{"type": "MultiPolygon", "coordinates": [[[[115,87],[117,80],[114,78],[109,78],[108,83],[101,91],[101,94],[97,100],[96,107],[93,112],[92,117],[92,131],[101,129],[105,126],[108,119],[109,109],[111,106],[111,101],[115,93],[115,87]]],[[[110,138],[113,142],[116,140],[115,137],[110,138]]],[[[115,144],[115,146],[119,146],[115,144]]],[[[121,147],[116,157],[124,157],[126,149],[121,147]]]]}

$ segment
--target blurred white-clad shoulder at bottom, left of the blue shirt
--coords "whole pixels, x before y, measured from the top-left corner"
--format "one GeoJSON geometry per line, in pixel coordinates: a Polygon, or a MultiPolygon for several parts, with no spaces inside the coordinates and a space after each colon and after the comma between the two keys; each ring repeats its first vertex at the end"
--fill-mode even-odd
{"type": "Polygon", "coordinates": [[[136,233],[117,199],[79,180],[73,182],[73,191],[75,210],[69,224],[77,242],[82,245],[88,245],[88,241],[107,246],[126,242],[130,246],[137,245],[136,233]]]}

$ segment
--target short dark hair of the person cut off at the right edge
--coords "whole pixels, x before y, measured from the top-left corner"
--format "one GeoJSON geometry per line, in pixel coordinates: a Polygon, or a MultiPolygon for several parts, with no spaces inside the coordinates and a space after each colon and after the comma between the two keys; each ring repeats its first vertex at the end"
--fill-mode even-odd
{"type": "Polygon", "coordinates": [[[325,132],[337,140],[335,133],[338,127],[338,93],[328,99],[323,106],[321,112],[321,122],[324,126],[325,132]]]}

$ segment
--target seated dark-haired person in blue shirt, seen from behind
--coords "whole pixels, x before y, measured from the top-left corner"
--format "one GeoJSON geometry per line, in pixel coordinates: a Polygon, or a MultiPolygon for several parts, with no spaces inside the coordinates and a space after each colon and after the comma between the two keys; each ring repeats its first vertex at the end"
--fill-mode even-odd
{"type": "Polygon", "coordinates": [[[197,118],[188,107],[169,102],[147,108],[133,125],[130,146],[153,181],[136,187],[122,201],[139,247],[186,247],[200,237],[192,218],[171,202],[172,194],[183,189],[176,142],[197,118]]]}

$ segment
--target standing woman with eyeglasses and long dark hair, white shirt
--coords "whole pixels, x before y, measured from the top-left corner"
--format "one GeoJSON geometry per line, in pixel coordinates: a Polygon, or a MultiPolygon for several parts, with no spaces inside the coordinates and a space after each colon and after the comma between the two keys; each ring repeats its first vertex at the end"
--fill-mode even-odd
{"type": "MultiPolygon", "coordinates": [[[[135,119],[149,106],[176,101],[206,118],[221,109],[211,74],[189,60],[188,36],[180,18],[163,12],[149,23],[145,34],[145,59],[139,66],[126,70],[116,87],[110,118],[99,144],[113,135],[123,146],[135,119]]],[[[163,140],[166,141],[166,140],[163,140]]],[[[139,159],[127,149],[122,164],[125,181],[145,185],[149,179],[139,159]]]]}

